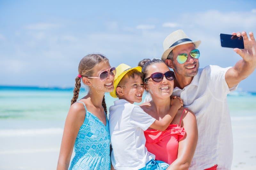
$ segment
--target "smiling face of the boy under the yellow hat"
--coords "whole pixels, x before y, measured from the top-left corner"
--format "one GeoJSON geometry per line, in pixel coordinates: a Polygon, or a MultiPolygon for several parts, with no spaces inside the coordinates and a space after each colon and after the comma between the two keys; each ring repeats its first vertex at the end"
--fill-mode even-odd
{"type": "Polygon", "coordinates": [[[127,78],[125,86],[122,87],[122,98],[130,103],[140,103],[144,92],[143,81],[139,75],[134,75],[134,78],[127,78]]]}

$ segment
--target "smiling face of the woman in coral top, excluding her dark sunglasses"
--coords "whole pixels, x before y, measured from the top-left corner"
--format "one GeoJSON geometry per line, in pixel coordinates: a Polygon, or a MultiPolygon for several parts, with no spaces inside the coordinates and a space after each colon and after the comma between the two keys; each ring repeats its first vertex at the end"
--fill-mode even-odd
{"type": "MultiPolygon", "coordinates": [[[[148,73],[146,78],[150,77],[151,74],[159,72],[166,73],[170,71],[165,63],[156,63],[152,64],[148,67],[148,73]]],[[[148,82],[145,83],[145,88],[149,91],[151,96],[159,97],[159,98],[167,98],[172,95],[173,91],[173,80],[167,80],[164,76],[163,80],[160,82],[155,82],[152,78],[148,79],[148,82]]]]}

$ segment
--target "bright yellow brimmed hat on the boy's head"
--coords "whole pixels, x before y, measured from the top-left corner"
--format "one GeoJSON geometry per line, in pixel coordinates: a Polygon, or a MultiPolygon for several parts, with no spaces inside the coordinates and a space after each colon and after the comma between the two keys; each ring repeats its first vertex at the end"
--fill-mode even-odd
{"type": "Polygon", "coordinates": [[[116,87],[117,87],[118,83],[121,81],[121,79],[124,77],[124,75],[131,70],[138,70],[139,72],[141,72],[142,68],[140,66],[130,67],[124,63],[122,63],[116,67],[116,75],[115,75],[115,79],[114,79],[114,91],[110,92],[110,96],[117,98],[116,87]]]}

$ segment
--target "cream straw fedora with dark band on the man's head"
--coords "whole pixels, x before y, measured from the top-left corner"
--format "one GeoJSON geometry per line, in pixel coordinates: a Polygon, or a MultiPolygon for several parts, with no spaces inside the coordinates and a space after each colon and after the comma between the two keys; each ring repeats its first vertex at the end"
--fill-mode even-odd
{"type": "Polygon", "coordinates": [[[164,53],[162,55],[162,60],[166,60],[169,53],[179,45],[188,44],[188,43],[194,43],[196,48],[201,44],[201,40],[198,41],[192,41],[188,38],[188,36],[185,34],[183,30],[177,30],[169,34],[164,39],[164,53]]]}

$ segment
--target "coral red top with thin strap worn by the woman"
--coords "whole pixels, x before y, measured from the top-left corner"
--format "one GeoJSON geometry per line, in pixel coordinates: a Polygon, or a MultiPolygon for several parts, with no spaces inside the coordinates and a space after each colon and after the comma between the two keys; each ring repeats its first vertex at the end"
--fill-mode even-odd
{"type": "MultiPolygon", "coordinates": [[[[185,112],[180,117],[180,123],[185,112]]],[[[148,129],[144,131],[146,147],[149,152],[156,155],[156,160],[171,164],[178,157],[179,141],[184,138],[186,131],[178,124],[170,124],[165,131],[148,129]]]]}

